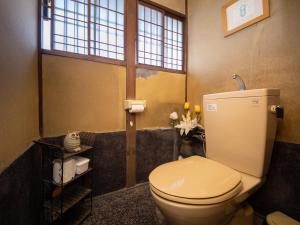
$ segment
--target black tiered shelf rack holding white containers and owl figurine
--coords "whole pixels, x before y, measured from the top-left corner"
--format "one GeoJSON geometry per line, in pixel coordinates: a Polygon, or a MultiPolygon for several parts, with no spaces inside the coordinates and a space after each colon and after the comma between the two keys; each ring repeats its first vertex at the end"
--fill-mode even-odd
{"type": "Polygon", "coordinates": [[[46,141],[34,141],[42,150],[42,189],[43,189],[43,225],[72,224],[79,225],[85,221],[93,210],[93,147],[80,145],[81,150],[77,152],[68,152],[62,145],[48,143],[46,141]],[[63,164],[64,161],[77,155],[85,155],[90,159],[87,171],[76,175],[72,180],[63,183],[63,164]],[[61,181],[53,181],[53,161],[61,160],[61,181]],[[84,177],[88,177],[85,179],[84,177]],[[84,185],[80,184],[84,181],[84,185]],[[77,210],[73,213],[74,208],[82,207],[83,201],[90,199],[90,207],[77,210]],[[80,204],[81,203],[81,204],[80,204]],[[66,215],[66,214],[69,214],[66,215]],[[72,216],[70,216],[72,215],[72,216]]]}

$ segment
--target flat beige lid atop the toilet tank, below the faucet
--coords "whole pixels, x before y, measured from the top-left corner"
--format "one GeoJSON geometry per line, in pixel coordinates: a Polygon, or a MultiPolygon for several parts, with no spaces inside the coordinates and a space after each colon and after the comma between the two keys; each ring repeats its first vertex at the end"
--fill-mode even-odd
{"type": "Polygon", "coordinates": [[[278,88],[262,88],[249,89],[245,91],[231,91],[215,94],[204,95],[204,99],[221,99],[221,98],[246,98],[246,97],[261,97],[261,96],[279,96],[280,89],[278,88]]]}

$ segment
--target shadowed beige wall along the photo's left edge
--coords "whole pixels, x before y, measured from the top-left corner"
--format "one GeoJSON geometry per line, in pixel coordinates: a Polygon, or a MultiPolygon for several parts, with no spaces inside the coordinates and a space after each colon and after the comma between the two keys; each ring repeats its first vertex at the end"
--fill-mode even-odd
{"type": "Polygon", "coordinates": [[[0,171],[38,137],[37,1],[0,1],[0,171]]]}

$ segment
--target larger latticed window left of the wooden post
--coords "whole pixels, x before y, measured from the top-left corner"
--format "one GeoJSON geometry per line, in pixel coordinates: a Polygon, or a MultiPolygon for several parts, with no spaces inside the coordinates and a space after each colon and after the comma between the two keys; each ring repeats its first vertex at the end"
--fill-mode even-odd
{"type": "Polygon", "coordinates": [[[43,0],[42,48],[124,60],[124,0],[43,0]]]}

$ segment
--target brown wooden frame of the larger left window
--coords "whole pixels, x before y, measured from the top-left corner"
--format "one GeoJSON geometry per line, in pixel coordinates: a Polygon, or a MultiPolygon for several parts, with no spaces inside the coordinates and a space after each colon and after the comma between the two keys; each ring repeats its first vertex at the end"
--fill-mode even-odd
{"type": "MultiPolygon", "coordinates": [[[[40,7],[39,7],[39,10],[41,10],[41,12],[42,12],[41,16],[39,18],[41,21],[43,20],[43,16],[44,16],[43,13],[45,12],[44,7],[43,7],[43,1],[44,0],[40,0],[40,7]]],[[[54,28],[54,20],[53,20],[54,4],[53,4],[53,1],[54,0],[51,0],[51,32],[50,32],[51,49],[43,49],[40,46],[41,54],[62,56],[62,57],[67,57],[67,58],[81,59],[81,60],[107,63],[107,64],[113,64],[113,65],[119,65],[119,66],[126,66],[126,61],[127,61],[127,59],[126,59],[126,51],[127,51],[127,47],[126,47],[126,33],[127,33],[126,0],[124,0],[124,59],[123,60],[118,60],[118,59],[113,59],[113,58],[103,57],[103,56],[90,55],[90,41],[91,40],[89,38],[88,38],[88,54],[87,55],[53,49],[53,36],[54,36],[54,34],[53,34],[53,28],[54,28]]],[[[89,5],[88,6],[88,32],[90,32],[90,23],[91,23],[91,21],[90,21],[90,0],[88,1],[88,5],[89,5]]],[[[40,23],[40,26],[41,26],[41,30],[42,30],[42,23],[40,23]]],[[[40,39],[42,38],[42,33],[39,38],[40,39]]]]}

